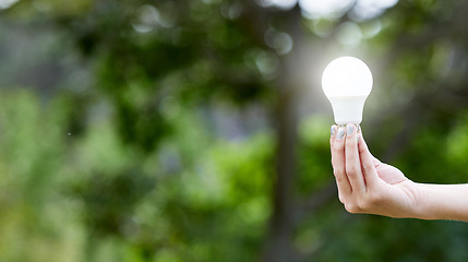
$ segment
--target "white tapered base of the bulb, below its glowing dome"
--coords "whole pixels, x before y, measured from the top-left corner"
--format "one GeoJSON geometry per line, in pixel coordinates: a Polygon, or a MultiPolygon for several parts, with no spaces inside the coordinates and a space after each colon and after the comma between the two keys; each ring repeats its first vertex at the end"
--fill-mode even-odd
{"type": "Polygon", "coordinates": [[[337,124],[362,122],[362,111],[368,96],[335,96],[328,97],[337,124]]]}

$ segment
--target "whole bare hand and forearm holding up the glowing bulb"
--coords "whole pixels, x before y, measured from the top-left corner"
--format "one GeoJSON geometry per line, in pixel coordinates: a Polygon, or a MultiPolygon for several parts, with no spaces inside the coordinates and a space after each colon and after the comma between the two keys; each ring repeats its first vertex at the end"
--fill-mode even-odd
{"type": "Polygon", "coordinates": [[[349,213],[468,222],[468,184],[416,183],[372,156],[355,124],[332,127],[339,201],[349,213]]]}

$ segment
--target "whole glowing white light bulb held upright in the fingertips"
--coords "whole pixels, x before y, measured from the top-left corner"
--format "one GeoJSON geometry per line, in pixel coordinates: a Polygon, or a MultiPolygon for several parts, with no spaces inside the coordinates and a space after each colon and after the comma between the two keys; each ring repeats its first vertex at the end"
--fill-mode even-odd
{"type": "Polygon", "coordinates": [[[337,124],[361,123],[372,82],[369,67],[355,57],[340,57],[326,66],[322,87],[332,104],[337,124]]]}

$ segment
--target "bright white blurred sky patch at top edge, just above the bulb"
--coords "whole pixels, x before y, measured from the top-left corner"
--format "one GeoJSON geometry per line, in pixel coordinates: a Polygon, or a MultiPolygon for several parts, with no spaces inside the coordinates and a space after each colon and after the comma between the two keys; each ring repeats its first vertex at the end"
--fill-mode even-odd
{"type": "Polygon", "coordinates": [[[337,19],[347,12],[356,0],[298,0],[299,7],[310,19],[337,19]]]}

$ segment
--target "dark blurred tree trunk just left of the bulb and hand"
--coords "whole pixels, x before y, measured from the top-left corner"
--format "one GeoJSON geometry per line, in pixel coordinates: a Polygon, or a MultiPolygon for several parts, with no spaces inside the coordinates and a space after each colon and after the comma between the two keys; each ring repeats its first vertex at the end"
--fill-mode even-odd
{"type": "Polygon", "coordinates": [[[275,111],[276,123],[276,178],[273,187],[273,213],[266,239],[264,261],[296,261],[292,237],[296,227],[298,103],[301,91],[300,72],[304,50],[300,10],[295,8],[283,16],[283,24],[293,39],[291,52],[279,57],[283,72],[278,79],[278,95],[275,111]]]}

